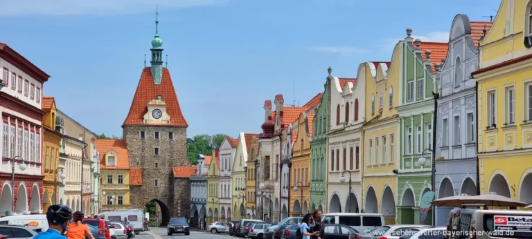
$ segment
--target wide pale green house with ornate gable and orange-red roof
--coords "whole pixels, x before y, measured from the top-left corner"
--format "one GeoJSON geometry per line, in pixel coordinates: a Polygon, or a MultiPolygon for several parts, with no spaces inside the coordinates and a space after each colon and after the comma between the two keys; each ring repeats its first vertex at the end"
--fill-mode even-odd
{"type": "Polygon", "coordinates": [[[425,220],[420,220],[423,214],[420,202],[425,193],[432,193],[432,93],[438,92],[440,63],[447,57],[448,44],[414,41],[411,32],[407,29],[407,37],[400,41],[400,106],[396,108],[401,139],[398,140],[397,219],[398,224],[432,224],[431,210],[425,214],[425,220]],[[426,161],[419,162],[422,155],[426,161]]]}

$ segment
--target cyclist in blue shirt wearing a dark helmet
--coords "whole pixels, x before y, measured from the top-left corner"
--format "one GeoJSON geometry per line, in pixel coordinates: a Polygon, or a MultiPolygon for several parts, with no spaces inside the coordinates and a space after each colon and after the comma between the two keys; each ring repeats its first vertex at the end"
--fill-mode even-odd
{"type": "Polygon", "coordinates": [[[62,234],[67,231],[67,225],[72,218],[72,211],[65,205],[51,205],[46,211],[48,230],[34,236],[34,239],[67,239],[62,234]]]}

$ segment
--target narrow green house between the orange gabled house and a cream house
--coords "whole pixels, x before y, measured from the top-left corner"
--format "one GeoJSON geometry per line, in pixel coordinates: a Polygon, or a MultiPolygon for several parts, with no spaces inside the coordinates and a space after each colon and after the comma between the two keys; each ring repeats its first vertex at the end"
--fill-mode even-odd
{"type": "MultiPolygon", "coordinates": [[[[329,75],[331,68],[328,68],[329,75]]],[[[327,177],[327,133],[329,131],[330,84],[329,77],[324,84],[319,107],[315,110],[310,141],[310,212],[326,209],[327,177]]],[[[325,213],[326,211],[323,211],[325,213]]]]}

